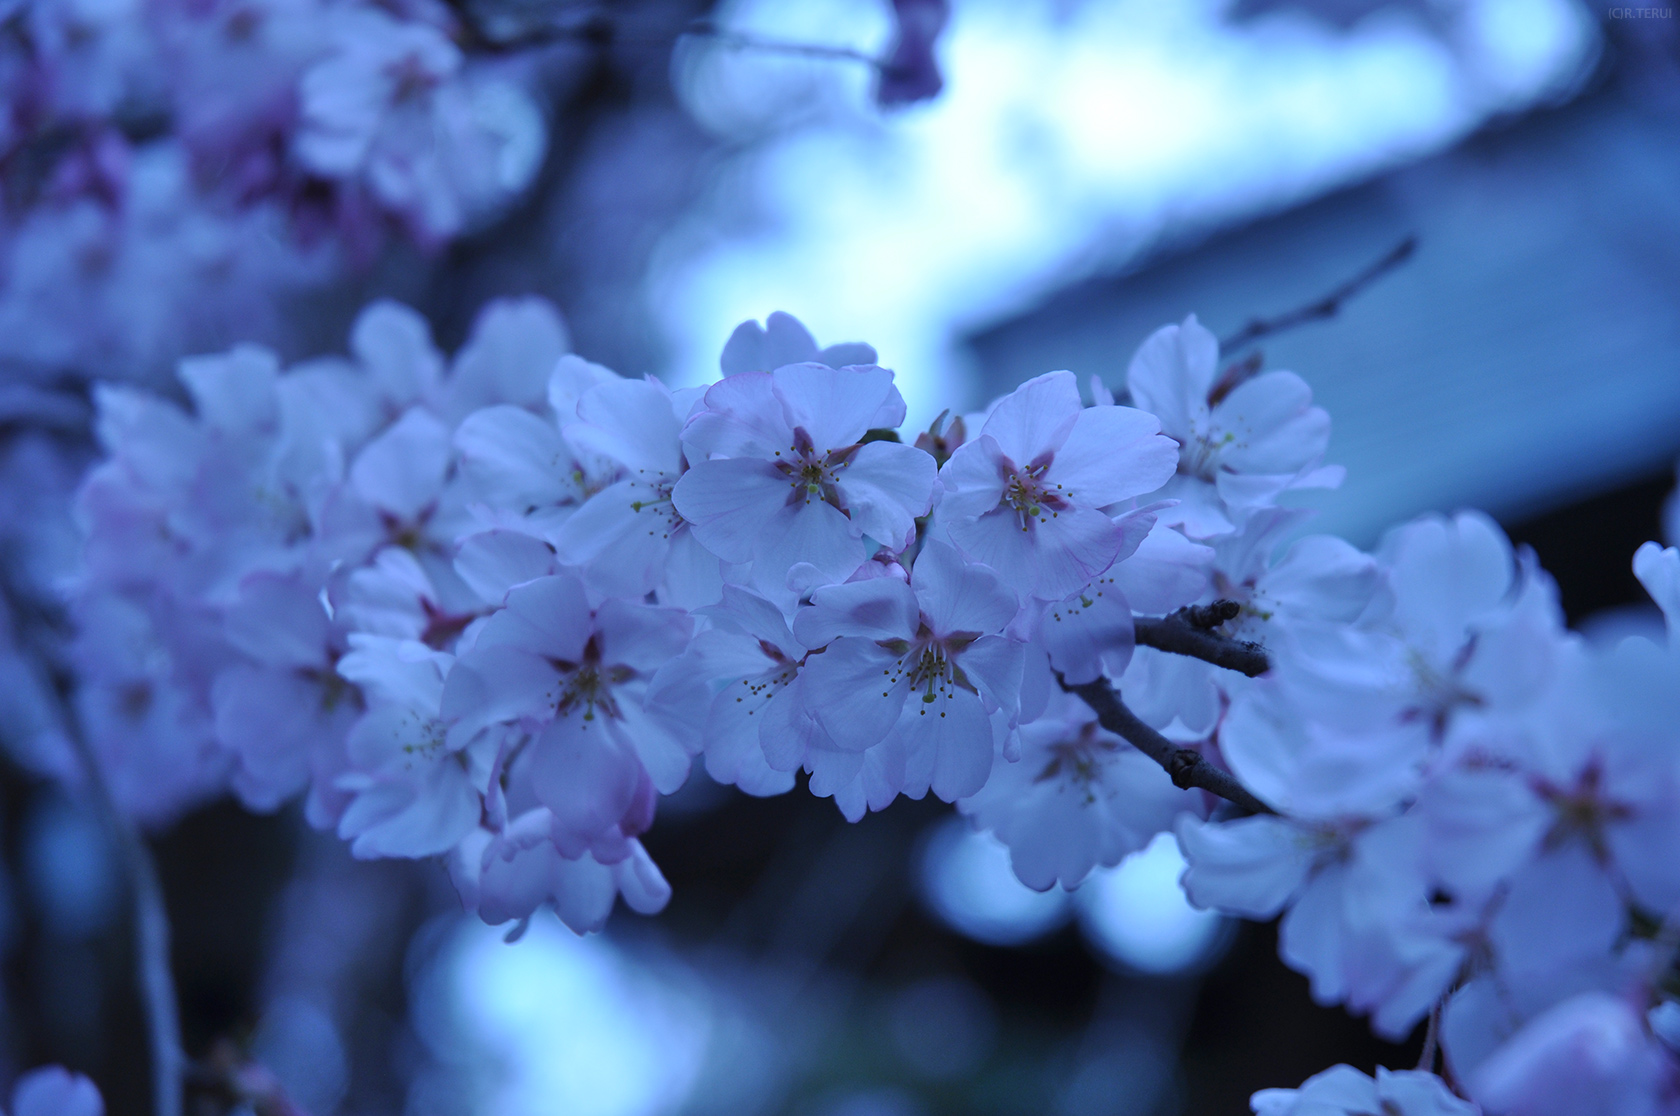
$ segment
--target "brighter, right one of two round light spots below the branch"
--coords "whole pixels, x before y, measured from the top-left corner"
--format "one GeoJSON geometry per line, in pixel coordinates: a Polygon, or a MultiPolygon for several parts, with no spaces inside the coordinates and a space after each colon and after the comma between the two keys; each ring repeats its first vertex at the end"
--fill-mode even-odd
{"type": "Polygon", "coordinates": [[[1085,936],[1109,958],[1168,976],[1211,963],[1228,941],[1215,911],[1189,906],[1178,877],[1184,857],[1171,834],[1156,834],[1117,867],[1097,869],[1074,892],[1085,936]]]}

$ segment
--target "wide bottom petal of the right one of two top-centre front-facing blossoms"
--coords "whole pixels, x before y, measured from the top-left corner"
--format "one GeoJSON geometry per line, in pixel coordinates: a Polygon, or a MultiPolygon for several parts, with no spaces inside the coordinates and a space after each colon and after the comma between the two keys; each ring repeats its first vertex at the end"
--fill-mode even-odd
{"type": "Polygon", "coordinates": [[[1013,509],[993,511],[953,523],[951,540],[968,558],[1040,600],[1060,600],[1090,583],[1114,565],[1124,541],[1114,521],[1090,508],[1030,518],[1025,528],[1013,509]]]}

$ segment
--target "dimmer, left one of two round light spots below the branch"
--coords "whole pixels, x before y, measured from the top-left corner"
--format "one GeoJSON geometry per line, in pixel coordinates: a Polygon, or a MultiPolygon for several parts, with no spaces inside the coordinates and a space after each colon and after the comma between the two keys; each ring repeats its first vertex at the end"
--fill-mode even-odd
{"type": "Polygon", "coordinates": [[[951,929],[995,946],[1025,945],[1070,914],[1067,892],[1040,892],[1023,884],[1003,842],[971,830],[961,819],[948,819],[929,834],[921,891],[951,929]]]}

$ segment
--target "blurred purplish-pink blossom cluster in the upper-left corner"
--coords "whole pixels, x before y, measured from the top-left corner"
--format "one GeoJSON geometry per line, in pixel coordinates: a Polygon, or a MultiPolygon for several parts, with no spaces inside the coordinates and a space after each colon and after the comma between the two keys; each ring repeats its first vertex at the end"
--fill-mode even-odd
{"type": "Polygon", "coordinates": [[[37,0],[0,37],[0,356],[133,376],[531,182],[522,59],[432,0],[37,0]]]}

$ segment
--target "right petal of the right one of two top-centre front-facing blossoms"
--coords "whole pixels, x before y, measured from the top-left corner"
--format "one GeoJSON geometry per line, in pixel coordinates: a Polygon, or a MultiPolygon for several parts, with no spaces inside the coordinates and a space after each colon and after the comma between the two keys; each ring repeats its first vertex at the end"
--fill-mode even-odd
{"type": "Polygon", "coordinates": [[[1178,472],[1178,442],[1132,407],[1087,407],[1050,462],[1047,481],[1080,504],[1105,508],[1152,492],[1178,472]]]}

